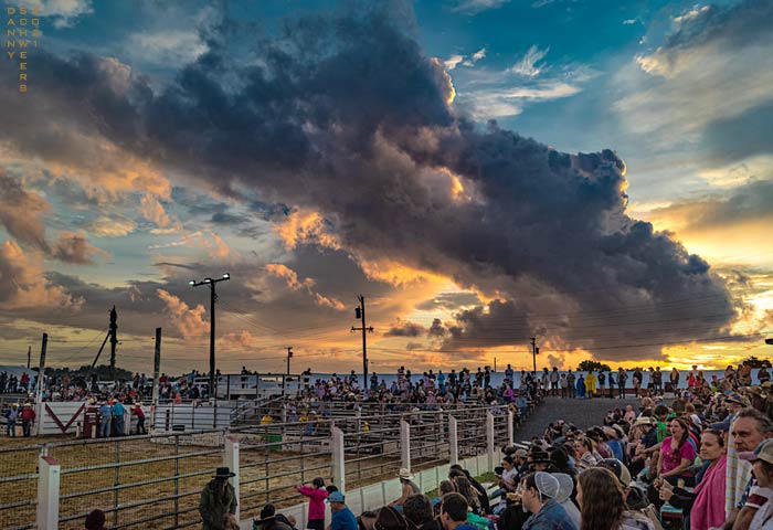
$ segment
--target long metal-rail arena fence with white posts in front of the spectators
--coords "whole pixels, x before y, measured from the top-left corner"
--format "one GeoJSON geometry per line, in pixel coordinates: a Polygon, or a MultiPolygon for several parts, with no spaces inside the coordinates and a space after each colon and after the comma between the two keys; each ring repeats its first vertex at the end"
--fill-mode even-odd
{"type": "Polygon", "coordinates": [[[499,406],[303,420],[0,449],[0,529],[82,528],[95,508],[114,530],[198,526],[201,490],[219,466],[236,473],[242,519],[269,501],[293,507],[294,485],[315,477],[363,491],[360,502],[372,506],[369,485],[389,497],[401,467],[427,484],[464,458],[493,468],[515,424],[499,406]]]}

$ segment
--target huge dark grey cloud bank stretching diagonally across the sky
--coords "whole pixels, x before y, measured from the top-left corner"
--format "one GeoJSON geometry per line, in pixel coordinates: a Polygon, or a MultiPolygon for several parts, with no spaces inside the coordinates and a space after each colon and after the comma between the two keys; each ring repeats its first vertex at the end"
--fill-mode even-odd
{"type": "MultiPolygon", "coordinates": [[[[233,61],[224,33],[210,35],[210,52],[159,93],[105,60],[42,52],[25,110],[42,127],[36,103],[45,120],[77,116],[78,127],[227,197],[256,190],[318,211],[349,266],[351,256],[389,258],[496,295],[486,310],[457,315],[446,348],[542,331],[593,350],[727,328],[733,303],[708,264],[627,215],[615,152],[570,156],[457,116],[442,63],[393,7],[287,21],[286,34],[255,42],[248,66],[233,61]],[[709,305],[723,317],[707,319],[709,305]]],[[[298,277],[326,277],[303,263],[298,277]]],[[[317,292],[356,293],[340,269],[319,272],[339,284],[317,292]]]]}

